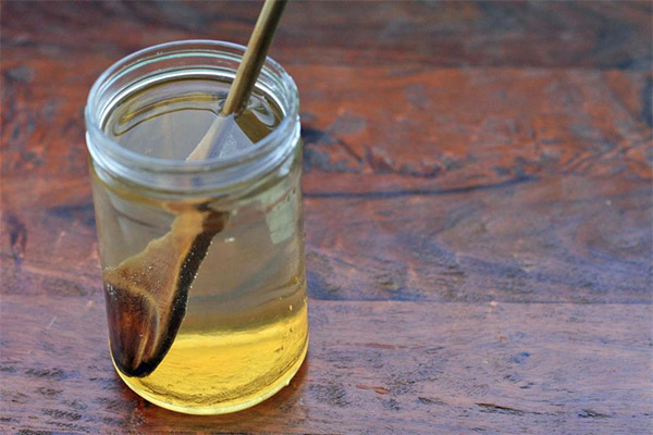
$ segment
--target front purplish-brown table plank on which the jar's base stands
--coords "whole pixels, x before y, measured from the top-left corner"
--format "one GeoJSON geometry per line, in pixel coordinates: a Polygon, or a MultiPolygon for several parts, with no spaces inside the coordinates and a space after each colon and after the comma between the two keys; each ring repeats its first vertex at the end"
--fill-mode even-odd
{"type": "Polygon", "coordinates": [[[313,300],[308,360],[291,385],[250,410],[197,418],[122,384],[101,291],[89,291],[29,307],[3,298],[8,430],[550,434],[653,423],[653,390],[636,382],[653,375],[650,306],[313,300]]]}

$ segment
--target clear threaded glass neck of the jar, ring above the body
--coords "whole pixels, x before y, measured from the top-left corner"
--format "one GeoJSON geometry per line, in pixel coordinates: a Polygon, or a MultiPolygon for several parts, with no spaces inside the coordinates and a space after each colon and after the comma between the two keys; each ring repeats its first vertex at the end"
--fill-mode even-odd
{"type": "Polygon", "coordinates": [[[220,41],[163,44],[128,55],[95,83],[85,110],[86,141],[101,172],[152,190],[173,194],[238,189],[274,171],[299,142],[297,88],[291,76],[267,59],[256,84],[282,111],[280,124],[264,138],[226,158],[177,161],[152,158],[115,142],[103,130],[112,108],[126,95],[171,76],[219,76],[233,80],[245,47],[220,41]]]}

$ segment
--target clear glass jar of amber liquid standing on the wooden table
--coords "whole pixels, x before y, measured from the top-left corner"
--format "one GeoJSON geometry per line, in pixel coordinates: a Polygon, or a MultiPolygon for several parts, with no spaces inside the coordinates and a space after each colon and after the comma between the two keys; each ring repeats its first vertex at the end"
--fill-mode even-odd
{"type": "Polygon", "coordinates": [[[113,363],[138,395],[186,413],[254,406],[305,358],[297,89],[268,59],[255,92],[281,121],[226,158],[135,152],[106,133],[107,120],[159,83],[231,83],[243,53],[208,40],[147,48],[98,78],[85,111],[113,363]]]}

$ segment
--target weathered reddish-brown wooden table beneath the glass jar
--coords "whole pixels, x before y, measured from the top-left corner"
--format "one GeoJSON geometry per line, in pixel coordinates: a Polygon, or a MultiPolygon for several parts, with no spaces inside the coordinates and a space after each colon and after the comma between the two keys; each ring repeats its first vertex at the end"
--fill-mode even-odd
{"type": "Polygon", "coordinates": [[[123,385],[87,92],[146,46],[245,44],[259,5],[2,3],[0,432],[650,433],[650,2],[292,2],[308,360],[223,417],[123,385]]]}

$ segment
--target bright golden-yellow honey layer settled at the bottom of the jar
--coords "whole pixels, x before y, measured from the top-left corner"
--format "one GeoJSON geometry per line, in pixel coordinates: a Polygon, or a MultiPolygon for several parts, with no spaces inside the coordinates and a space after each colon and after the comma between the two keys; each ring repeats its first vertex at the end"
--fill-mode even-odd
{"type": "Polygon", "coordinates": [[[164,408],[196,414],[233,412],[287,385],[306,355],[307,326],[304,306],[259,328],[181,332],[152,374],[139,378],[119,373],[132,389],[164,408]]]}

